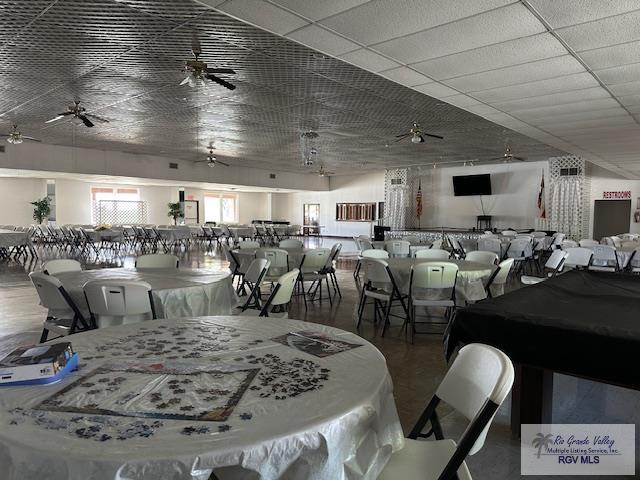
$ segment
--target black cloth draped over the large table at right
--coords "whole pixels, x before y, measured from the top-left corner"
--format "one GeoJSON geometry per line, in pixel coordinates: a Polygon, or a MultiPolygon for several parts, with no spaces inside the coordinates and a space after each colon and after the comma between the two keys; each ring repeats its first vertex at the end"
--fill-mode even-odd
{"type": "Polygon", "coordinates": [[[640,389],[640,277],[572,271],[460,309],[446,338],[512,361],[640,389]]]}

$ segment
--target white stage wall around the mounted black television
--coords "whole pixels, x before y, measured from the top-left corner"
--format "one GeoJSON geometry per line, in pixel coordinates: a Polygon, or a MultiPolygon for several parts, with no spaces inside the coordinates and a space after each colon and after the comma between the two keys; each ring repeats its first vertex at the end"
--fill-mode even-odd
{"type": "MultiPolygon", "coordinates": [[[[548,185],[548,168],[548,162],[527,162],[425,169],[421,177],[420,226],[471,228],[476,226],[476,217],[485,214],[493,216],[493,226],[497,228],[533,227],[538,214],[540,179],[544,171],[548,185]],[[492,195],[453,195],[453,176],[483,173],[491,174],[492,195]]],[[[415,199],[411,201],[415,204],[415,199]]]]}

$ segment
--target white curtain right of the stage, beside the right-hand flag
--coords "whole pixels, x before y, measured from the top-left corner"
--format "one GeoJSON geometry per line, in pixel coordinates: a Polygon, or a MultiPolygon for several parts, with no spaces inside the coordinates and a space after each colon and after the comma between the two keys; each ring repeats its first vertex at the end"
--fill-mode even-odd
{"type": "Polygon", "coordinates": [[[582,232],[582,182],[578,176],[560,177],[551,186],[551,229],[568,237],[582,232]]]}

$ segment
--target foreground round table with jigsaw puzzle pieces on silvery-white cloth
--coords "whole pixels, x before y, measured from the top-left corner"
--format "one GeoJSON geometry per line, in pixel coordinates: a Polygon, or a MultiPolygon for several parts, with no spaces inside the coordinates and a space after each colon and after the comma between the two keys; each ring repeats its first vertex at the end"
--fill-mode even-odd
{"type": "Polygon", "coordinates": [[[78,371],[2,389],[4,480],[206,480],[222,467],[238,478],[375,479],[403,446],[385,359],[352,333],[200,317],[69,339],[78,371]]]}

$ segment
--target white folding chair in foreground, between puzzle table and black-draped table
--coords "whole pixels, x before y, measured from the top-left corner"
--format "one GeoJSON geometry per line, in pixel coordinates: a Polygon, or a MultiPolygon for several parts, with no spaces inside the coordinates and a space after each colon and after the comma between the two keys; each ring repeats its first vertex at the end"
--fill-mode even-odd
{"type": "Polygon", "coordinates": [[[483,447],[491,422],[511,391],[514,369],[497,348],[472,343],[460,349],[451,368],[378,480],[471,480],[465,463],[483,447]],[[452,407],[469,425],[456,443],[446,439],[436,413],[440,402],[452,407]],[[423,433],[427,424],[428,433],[423,433]],[[435,437],[432,441],[418,438],[435,437]]]}

